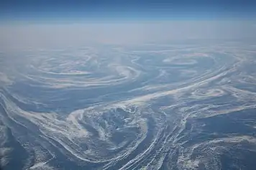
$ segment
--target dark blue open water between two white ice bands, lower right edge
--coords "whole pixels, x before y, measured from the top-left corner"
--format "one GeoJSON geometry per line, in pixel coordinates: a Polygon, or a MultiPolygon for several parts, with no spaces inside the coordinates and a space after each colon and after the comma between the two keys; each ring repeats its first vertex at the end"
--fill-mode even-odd
{"type": "Polygon", "coordinates": [[[187,147],[215,138],[255,136],[256,130],[250,124],[256,121],[255,113],[255,109],[246,109],[209,118],[188,119],[186,128],[180,133],[183,138],[179,142],[187,141],[184,144],[187,147]]]}

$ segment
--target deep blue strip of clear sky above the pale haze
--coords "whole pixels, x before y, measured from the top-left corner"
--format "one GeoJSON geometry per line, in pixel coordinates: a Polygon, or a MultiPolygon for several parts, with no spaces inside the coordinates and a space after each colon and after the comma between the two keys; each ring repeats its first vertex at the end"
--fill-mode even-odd
{"type": "Polygon", "coordinates": [[[248,0],[2,0],[1,20],[253,19],[248,0]]]}

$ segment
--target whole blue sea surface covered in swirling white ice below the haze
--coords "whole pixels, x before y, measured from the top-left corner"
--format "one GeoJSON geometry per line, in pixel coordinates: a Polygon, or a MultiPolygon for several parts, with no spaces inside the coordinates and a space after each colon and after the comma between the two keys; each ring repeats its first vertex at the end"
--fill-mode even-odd
{"type": "Polygon", "coordinates": [[[1,52],[1,164],[255,167],[255,59],[237,43],[1,52]]]}

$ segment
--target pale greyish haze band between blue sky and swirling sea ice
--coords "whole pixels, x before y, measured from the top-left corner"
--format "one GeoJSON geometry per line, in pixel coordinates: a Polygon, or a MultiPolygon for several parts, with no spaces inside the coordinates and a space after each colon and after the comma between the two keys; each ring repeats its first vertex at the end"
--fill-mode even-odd
{"type": "Polygon", "coordinates": [[[14,23],[0,28],[1,48],[163,43],[186,39],[255,39],[255,21],[109,21],[14,23]]]}

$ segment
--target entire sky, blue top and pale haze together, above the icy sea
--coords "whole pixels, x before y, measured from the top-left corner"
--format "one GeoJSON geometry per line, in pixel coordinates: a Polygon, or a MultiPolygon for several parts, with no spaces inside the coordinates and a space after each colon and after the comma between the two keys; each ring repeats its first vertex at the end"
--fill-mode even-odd
{"type": "Polygon", "coordinates": [[[1,49],[256,38],[247,0],[0,1],[1,49]]]}

